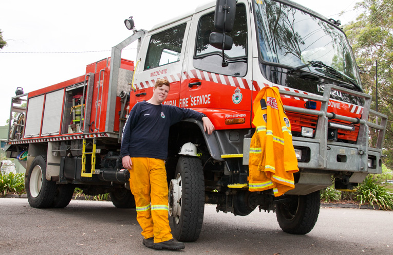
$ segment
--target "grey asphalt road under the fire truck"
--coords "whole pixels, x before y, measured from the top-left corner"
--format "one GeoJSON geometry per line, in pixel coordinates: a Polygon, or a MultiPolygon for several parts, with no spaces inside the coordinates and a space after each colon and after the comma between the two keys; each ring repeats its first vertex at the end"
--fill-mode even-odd
{"type": "Polygon", "coordinates": [[[306,235],[284,233],[276,216],[234,216],[205,206],[197,242],[182,251],[142,245],[135,209],[111,202],[71,201],[35,209],[24,198],[0,198],[0,254],[393,254],[393,212],[321,208],[306,235]]]}

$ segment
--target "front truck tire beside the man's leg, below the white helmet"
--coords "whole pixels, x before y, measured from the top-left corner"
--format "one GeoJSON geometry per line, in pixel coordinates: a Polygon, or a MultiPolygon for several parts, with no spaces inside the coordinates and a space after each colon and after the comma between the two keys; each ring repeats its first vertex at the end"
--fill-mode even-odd
{"type": "Polygon", "coordinates": [[[175,178],[179,194],[176,205],[178,210],[172,215],[172,233],[179,241],[194,242],[199,238],[204,212],[204,177],[200,159],[180,157],[175,178]]]}

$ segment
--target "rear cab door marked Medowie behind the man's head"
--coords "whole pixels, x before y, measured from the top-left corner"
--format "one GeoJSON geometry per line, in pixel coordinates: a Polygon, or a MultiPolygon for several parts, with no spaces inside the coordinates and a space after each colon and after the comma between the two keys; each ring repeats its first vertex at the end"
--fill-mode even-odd
{"type": "Polygon", "coordinates": [[[179,105],[181,68],[190,21],[191,15],[164,27],[159,25],[149,32],[145,39],[148,43],[143,43],[138,56],[141,61],[136,68],[134,81],[136,101],[150,99],[157,79],[163,78],[171,85],[163,103],[179,105]]]}

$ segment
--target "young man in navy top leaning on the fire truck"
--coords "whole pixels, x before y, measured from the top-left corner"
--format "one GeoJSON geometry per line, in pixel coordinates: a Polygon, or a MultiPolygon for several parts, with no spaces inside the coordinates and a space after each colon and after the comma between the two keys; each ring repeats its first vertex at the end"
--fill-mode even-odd
{"type": "Polygon", "coordinates": [[[173,239],[168,221],[168,186],[165,159],[169,129],[184,118],[203,121],[208,134],[214,125],[206,115],[190,109],[162,104],[170,83],[158,79],[153,97],[137,103],[129,113],[123,130],[121,156],[130,173],[129,183],[135,197],[137,220],[142,227],[143,244],[154,249],[184,249],[173,239]]]}

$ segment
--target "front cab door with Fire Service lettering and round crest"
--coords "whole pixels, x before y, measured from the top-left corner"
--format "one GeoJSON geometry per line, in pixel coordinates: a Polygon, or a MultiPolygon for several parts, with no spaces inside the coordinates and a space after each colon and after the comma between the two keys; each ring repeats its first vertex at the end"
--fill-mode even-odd
{"type": "Polygon", "coordinates": [[[227,33],[233,38],[233,46],[225,51],[228,66],[224,67],[222,50],[209,44],[210,33],[216,32],[214,8],[197,12],[193,17],[179,106],[205,113],[211,117],[216,129],[250,128],[252,54],[248,47],[251,40],[249,12],[249,5],[237,4],[234,28],[227,33]]]}

